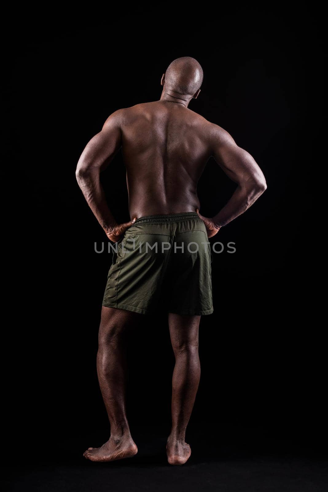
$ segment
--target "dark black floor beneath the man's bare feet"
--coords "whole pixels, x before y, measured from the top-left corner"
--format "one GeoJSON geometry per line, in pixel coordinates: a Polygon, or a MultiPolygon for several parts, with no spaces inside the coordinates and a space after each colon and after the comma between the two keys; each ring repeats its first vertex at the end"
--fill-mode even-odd
{"type": "MultiPolygon", "coordinates": [[[[328,491],[328,461],[315,447],[258,435],[251,430],[222,436],[189,433],[191,458],[183,466],[166,461],[164,432],[135,431],[138,454],[112,463],[92,463],[82,457],[92,442],[57,445],[54,453],[32,445],[27,460],[9,463],[6,491],[222,491],[316,492],[328,491]],[[40,454],[41,453],[41,454],[40,454]]],[[[95,442],[96,440],[96,442],[95,442]]]]}

